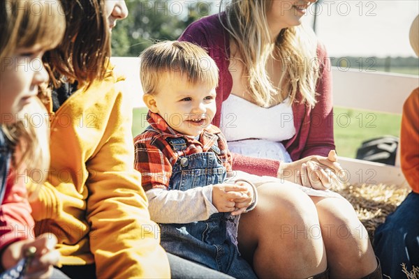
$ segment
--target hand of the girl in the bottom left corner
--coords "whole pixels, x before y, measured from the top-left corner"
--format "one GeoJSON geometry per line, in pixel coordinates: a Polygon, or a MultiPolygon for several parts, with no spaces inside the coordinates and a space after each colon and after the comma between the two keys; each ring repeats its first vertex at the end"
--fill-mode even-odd
{"type": "Polygon", "coordinates": [[[10,269],[24,257],[25,251],[34,246],[36,254],[29,263],[25,278],[50,278],[54,264],[58,264],[60,254],[54,250],[57,237],[54,234],[41,234],[36,239],[26,239],[10,244],[1,255],[1,264],[10,269]]]}

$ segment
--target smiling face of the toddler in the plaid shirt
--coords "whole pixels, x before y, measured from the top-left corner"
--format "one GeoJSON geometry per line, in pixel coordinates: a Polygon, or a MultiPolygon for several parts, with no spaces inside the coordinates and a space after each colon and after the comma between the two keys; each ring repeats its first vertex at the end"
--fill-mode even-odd
{"type": "Polygon", "coordinates": [[[214,118],[215,96],[215,88],[188,84],[186,78],[179,75],[166,75],[158,92],[145,95],[144,100],[171,128],[196,137],[214,118]]]}

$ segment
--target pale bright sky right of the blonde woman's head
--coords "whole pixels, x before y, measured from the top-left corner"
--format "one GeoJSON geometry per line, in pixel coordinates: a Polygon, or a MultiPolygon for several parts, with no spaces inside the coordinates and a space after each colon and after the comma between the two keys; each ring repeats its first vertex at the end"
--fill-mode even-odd
{"type": "MultiPolygon", "coordinates": [[[[330,56],[416,56],[409,30],[418,0],[322,0],[320,7],[316,33],[330,56]]],[[[314,13],[303,21],[312,25],[314,13]]]]}

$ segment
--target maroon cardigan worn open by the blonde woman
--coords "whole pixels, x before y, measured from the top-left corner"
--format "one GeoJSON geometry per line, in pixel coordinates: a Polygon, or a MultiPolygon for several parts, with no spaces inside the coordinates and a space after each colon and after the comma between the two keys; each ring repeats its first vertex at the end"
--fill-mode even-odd
{"type": "MultiPolygon", "coordinates": [[[[225,13],[221,19],[225,20],[225,13]]],[[[216,88],[216,115],[212,123],[222,125],[221,106],[230,95],[233,79],[228,71],[230,64],[229,34],[219,21],[219,15],[210,15],[193,22],[184,31],[179,40],[196,43],[205,48],[219,67],[219,86],[216,88]]],[[[321,62],[321,78],[316,92],[316,106],[311,107],[299,103],[302,96],[297,93],[297,100],[293,103],[295,135],[290,140],[282,142],[293,160],[299,160],[310,155],[328,156],[330,150],[335,149],[333,139],[333,107],[331,91],[330,59],[323,45],[318,45],[318,59],[321,62]]],[[[226,119],[227,120],[227,119],[226,119]]],[[[272,128],[276,128],[274,119],[272,128]]],[[[278,129],[280,126],[278,124],[278,129]]],[[[277,160],[252,158],[233,153],[233,169],[251,174],[277,176],[280,162],[277,160]]]]}

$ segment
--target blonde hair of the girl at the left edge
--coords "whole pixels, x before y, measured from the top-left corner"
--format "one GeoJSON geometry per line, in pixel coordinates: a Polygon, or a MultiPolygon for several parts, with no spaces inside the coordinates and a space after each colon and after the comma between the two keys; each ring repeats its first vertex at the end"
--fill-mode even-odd
{"type": "MultiPolygon", "coordinates": [[[[0,63],[12,56],[19,48],[36,45],[41,50],[57,46],[66,29],[64,11],[59,1],[6,0],[0,2],[0,63]]],[[[46,84],[45,84],[46,86],[46,84]]],[[[40,89],[43,94],[46,88],[40,89]]],[[[8,145],[14,152],[13,167],[21,166],[33,181],[42,183],[43,173],[50,165],[49,120],[40,100],[26,105],[17,116],[18,121],[1,129],[8,137],[8,145]],[[34,123],[34,117],[42,119],[34,123]],[[42,176],[40,176],[42,174],[42,176]]]]}

